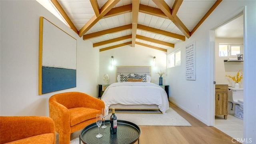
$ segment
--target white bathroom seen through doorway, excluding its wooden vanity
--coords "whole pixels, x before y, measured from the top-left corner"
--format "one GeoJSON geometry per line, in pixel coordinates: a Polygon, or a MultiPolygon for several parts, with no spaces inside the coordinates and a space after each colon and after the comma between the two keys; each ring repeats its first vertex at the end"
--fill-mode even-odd
{"type": "Polygon", "coordinates": [[[230,77],[237,79],[238,73],[241,77],[243,68],[243,15],[240,14],[215,30],[215,81],[228,85],[228,116],[226,119],[215,116],[214,127],[232,138],[243,138],[243,79],[238,80],[238,85],[230,77]],[[239,98],[232,97],[232,92],[239,98]],[[241,101],[237,102],[238,99],[241,101]]]}

